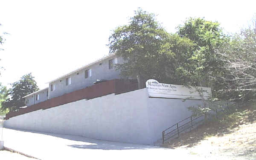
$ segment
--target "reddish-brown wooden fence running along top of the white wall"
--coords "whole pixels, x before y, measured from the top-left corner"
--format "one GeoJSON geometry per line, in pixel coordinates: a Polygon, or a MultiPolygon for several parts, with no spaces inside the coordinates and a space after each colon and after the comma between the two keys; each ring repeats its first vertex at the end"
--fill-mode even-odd
{"type": "Polygon", "coordinates": [[[93,99],[101,96],[106,96],[112,93],[120,94],[124,92],[129,92],[131,90],[138,89],[137,86],[137,80],[134,79],[113,79],[110,81],[103,81],[101,83],[80,90],[76,90],[71,93],[64,94],[62,96],[48,99],[44,102],[40,102],[35,105],[28,106],[26,108],[20,108],[18,111],[10,111],[6,114],[6,119],[21,114],[29,113],[32,111],[37,111],[40,109],[57,107],[59,105],[64,105],[81,99],[93,99]]]}

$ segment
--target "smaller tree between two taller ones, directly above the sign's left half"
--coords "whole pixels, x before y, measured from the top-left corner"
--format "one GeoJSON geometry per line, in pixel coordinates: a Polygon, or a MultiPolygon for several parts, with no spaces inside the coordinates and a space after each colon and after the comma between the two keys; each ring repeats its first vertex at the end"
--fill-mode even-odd
{"type": "Polygon", "coordinates": [[[160,50],[160,56],[163,57],[163,61],[160,61],[162,65],[160,67],[166,69],[166,77],[164,77],[163,82],[183,85],[191,80],[188,69],[193,48],[194,43],[188,38],[181,38],[177,34],[169,34],[160,50]]]}

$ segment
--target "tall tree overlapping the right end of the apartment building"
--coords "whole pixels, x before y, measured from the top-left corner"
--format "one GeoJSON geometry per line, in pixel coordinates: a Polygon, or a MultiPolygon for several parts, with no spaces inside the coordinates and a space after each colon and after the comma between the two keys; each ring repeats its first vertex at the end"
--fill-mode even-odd
{"type": "Polygon", "coordinates": [[[154,14],[138,9],[129,24],[117,27],[109,38],[110,54],[124,59],[116,69],[123,77],[137,78],[141,86],[147,79],[161,81],[165,77],[165,55],[160,54],[160,49],[168,36],[154,14]]]}

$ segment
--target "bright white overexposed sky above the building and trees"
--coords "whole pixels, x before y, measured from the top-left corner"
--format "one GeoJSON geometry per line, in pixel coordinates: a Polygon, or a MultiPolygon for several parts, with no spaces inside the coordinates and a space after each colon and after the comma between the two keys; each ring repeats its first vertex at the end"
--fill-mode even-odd
{"type": "Polygon", "coordinates": [[[138,7],[157,15],[167,32],[188,17],[218,21],[238,32],[256,14],[255,0],[0,0],[0,82],[10,87],[32,73],[47,82],[108,55],[108,38],[138,7]]]}

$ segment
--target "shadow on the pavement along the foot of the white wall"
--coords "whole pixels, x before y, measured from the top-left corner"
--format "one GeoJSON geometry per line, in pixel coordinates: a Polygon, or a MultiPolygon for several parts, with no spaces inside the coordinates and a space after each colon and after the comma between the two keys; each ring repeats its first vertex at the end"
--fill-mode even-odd
{"type": "Polygon", "coordinates": [[[81,149],[102,149],[102,150],[128,150],[128,149],[151,149],[151,148],[160,148],[154,145],[140,145],[133,143],[120,143],[112,142],[105,140],[96,140],[92,138],[82,137],[82,136],[72,136],[67,134],[52,134],[46,132],[37,132],[37,131],[26,131],[15,128],[9,128],[16,131],[23,131],[35,134],[44,134],[52,137],[58,137],[66,140],[78,141],[79,144],[67,145],[72,148],[81,148],[81,149]]]}

